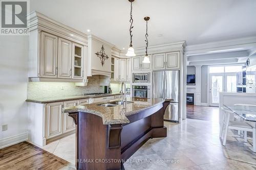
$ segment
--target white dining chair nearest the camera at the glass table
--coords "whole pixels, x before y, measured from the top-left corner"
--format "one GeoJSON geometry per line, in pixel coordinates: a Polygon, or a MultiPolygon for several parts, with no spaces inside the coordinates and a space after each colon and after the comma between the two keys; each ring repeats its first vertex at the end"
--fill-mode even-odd
{"type": "Polygon", "coordinates": [[[220,138],[223,140],[222,145],[226,145],[228,129],[244,131],[245,135],[247,135],[247,132],[252,132],[252,151],[256,152],[256,129],[251,125],[247,124],[246,122],[230,120],[230,114],[234,113],[231,112],[229,109],[225,109],[222,107],[221,110],[224,113],[220,130],[220,138]]]}

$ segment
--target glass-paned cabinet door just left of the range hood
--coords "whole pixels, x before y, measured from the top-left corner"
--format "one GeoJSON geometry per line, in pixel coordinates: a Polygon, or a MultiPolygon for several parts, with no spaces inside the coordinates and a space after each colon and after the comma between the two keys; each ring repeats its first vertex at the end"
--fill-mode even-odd
{"type": "Polygon", "coordinates": [[[72,43],[72,79],[83,79],[83,45],[72,43]]]}

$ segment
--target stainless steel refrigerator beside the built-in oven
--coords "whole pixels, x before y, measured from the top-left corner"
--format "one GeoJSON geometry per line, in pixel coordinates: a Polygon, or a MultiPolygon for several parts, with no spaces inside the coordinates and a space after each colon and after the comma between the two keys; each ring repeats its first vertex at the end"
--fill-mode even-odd
{"type": "Polygon", "coordinates": [[[164,112],[164,119],[179,122],[179,70],[154,71],[152,97],[172,99],[164,112]]]}

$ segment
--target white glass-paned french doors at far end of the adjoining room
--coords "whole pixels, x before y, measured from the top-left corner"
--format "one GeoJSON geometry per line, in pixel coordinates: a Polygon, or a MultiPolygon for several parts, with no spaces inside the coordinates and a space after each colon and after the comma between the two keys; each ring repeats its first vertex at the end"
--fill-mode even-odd
{"type": "Polygon", "coordinates": [[[209,106],[219,106],[220,92],[236,92],[236,73],[215,73],[209,76],[209,106]]]}

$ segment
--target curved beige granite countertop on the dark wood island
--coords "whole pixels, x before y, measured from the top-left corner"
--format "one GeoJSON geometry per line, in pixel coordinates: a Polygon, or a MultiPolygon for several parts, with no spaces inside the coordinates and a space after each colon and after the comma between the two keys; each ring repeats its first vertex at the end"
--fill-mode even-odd
{"type": "MultiPolygon", "coordinates": [[[[111,100],[111,101],[120,101],[120,100],[111,100]]],[[[114,107],[104,107],[98,106],[98,104],[108,103],[108,102],[99,102],[92,103],[80,106],[67,107],[63,109],[64,113],[73,113],[73,112],[87,112],[98,115],[102,118],[103,125],[112,125],[112,124],[126,124],[130,123],[129,119],[126,116],[130,116],[136,113],[139,113],[148,108],[154,107],[158,104],[162,104],[164,99],[153,98],[147,99],[146,101],[135,101],[134,98],[127,98],[126,108],[123,108],[123,105],[117,105],[114,107]],[[133,103],[129,103],[133,102],[133,103]]],[[[109,101],[110,102],[110,101],[109,101]]]]}

